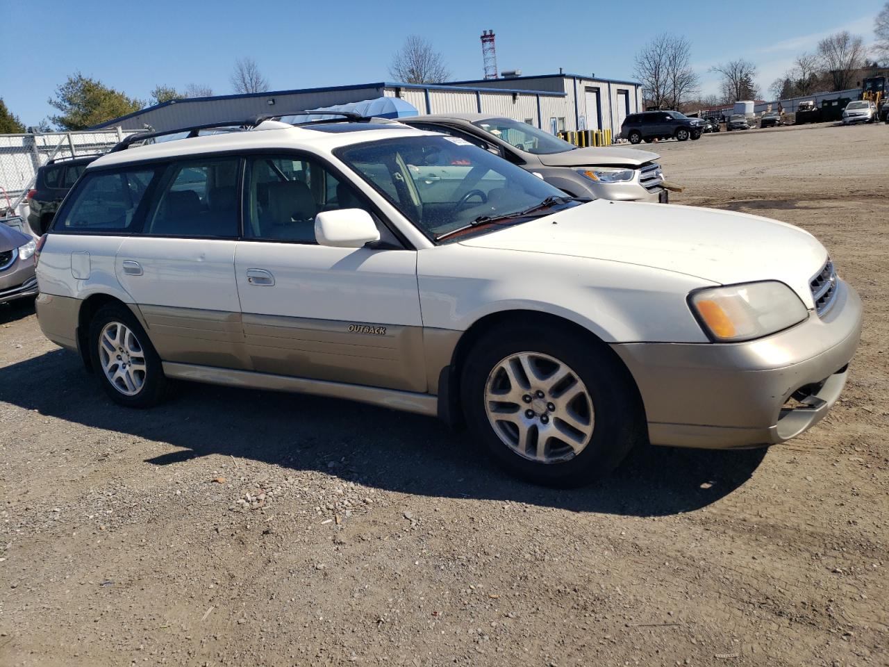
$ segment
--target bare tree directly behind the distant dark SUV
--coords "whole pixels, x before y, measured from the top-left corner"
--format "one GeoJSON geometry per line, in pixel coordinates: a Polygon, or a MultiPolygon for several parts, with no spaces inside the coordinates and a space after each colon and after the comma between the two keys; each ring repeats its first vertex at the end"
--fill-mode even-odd
{"type": "Polygon", "coordinates": [[[663,34],[636,54],[635,73],[657,108],[680,108],[698,92],[699,79],[691,66],[692,45],[685,37],[663,34]]]}

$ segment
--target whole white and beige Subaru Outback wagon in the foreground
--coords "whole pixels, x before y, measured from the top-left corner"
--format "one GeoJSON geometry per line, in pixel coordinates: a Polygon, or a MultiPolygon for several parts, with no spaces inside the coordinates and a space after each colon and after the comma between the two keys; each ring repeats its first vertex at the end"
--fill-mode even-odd
{"type": "Polygon", "coordinates": [[[789,224],[578,201],[374,121],[120,148],[41,240],[37,313],[124,406],[184,379],[437,414],[570,486],[640,441],[796,436],[859,341],[858,295],[789,224]]]}

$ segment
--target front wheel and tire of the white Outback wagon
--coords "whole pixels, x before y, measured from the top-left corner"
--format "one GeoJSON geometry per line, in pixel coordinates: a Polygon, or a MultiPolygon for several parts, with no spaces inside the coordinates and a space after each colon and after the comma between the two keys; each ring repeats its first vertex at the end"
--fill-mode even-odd
{"type": "Polygon", "coordinates": [[[643,438],[629,372],[590,337],[550,325],[498,329],[475,344],[463,368],[469,430],[517,477],[589,484],[643,438]]]}

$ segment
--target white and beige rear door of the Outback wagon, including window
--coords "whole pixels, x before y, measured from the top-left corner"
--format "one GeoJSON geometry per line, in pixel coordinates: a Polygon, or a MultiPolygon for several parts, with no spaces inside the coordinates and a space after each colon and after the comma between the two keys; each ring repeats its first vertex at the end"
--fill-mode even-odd
{"type": "Polygon", "coordinates": [[[164,361],[249,368],[235,284],[237,157],[165,165],[116,276],[164,361]]]}

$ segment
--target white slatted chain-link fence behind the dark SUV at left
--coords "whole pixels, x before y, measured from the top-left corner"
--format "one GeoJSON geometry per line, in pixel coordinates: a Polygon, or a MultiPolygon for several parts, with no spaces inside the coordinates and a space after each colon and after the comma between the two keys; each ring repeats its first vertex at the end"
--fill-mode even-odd
{"type": "Polygon", "coordinates": [[[132,130],[0,134],[0,210],[17,210],[50,160],[108,152],[132,130]]]}

